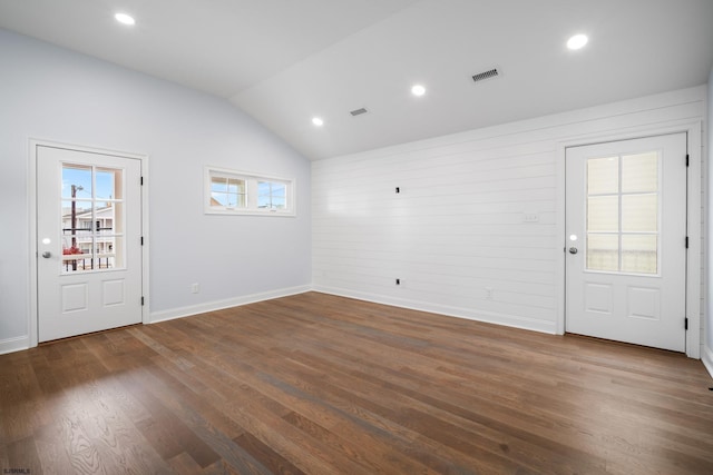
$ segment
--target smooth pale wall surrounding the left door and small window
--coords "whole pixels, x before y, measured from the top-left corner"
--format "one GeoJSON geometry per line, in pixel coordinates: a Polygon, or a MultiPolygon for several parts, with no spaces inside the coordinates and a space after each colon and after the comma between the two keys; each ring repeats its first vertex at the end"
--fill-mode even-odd
{"type": "Polygon", "coordinates": [[[30,138],[149,156],[154,319],[309,288],[309,161],[252,118],[222,99],[6,30],[0,65],[0,353],[29,342],[30,138]],[[297,217],[204,215],[206,164],[295,178],[297,217]]]}

